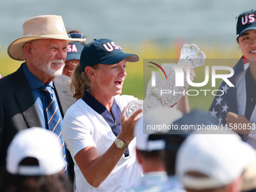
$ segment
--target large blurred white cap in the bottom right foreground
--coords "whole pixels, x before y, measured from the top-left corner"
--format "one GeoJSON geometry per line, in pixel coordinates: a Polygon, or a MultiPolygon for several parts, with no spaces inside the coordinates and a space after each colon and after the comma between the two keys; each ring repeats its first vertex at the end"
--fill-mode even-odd
{"type": "Polygon", "coordinates": [[[184,187],[203,190],[231,184],[256,159],[254,148],[233,131],[207,133],[203,130],[188,136],[178,151],[176,171],[184,187]],[[206,177],[194,177],[187,172],[199,172],[206,177]]]}

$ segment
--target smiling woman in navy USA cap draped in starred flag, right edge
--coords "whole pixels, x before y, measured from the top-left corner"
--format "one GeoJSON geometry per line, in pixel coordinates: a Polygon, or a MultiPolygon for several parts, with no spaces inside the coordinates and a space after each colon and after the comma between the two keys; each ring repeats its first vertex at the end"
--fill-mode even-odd
{"type": "Polygon", "coordinates": [[[215,96],[209,113],[256,148],[256,11],[244,11],[236,19],[236,42],[246,59],[239,60],[233,68],[234,75],[229,78],[235,87],[225,81],[221,83],[219,90],[224,94],[215,96]]]}

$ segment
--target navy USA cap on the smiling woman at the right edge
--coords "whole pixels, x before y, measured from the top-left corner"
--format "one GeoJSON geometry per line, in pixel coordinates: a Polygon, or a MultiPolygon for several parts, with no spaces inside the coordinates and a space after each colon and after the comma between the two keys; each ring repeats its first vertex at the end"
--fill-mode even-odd
{"type": "Polygon", "coordinates": [[[256,11],[254,9],[245,11],[236,18],[236,39],[248,30],[256,30],[256,11]]]}

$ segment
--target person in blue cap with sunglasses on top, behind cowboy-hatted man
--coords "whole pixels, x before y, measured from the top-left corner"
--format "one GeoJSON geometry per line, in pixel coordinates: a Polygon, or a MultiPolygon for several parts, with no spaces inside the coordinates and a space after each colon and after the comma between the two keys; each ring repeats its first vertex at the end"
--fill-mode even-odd
{"type": "MultiPolygon", "coordinates": [[[[72,30],[68,32],[69,38],[84,38],[84,34],[79,31],[72,30]]],[[[68,56],[65,62],[65,66],[63,68],[62,75],[67,75],[69,78],[71,77],[75,66],[78,65],[80,61],[80,55],[84,48],[84,41],[72,41],[68,45],[68,56]]]]}

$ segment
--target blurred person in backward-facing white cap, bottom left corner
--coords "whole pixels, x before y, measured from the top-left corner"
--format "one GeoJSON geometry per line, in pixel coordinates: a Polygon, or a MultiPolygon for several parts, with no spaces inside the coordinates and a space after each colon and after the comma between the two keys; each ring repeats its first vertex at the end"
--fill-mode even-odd
{"type": "Polygon", "coordinates": [[[21,130],[8,147],[0,191],[71,192],[72,184],[62,174],[66,167],[62,157],[56,134],[39,127],[21,130]]]}

